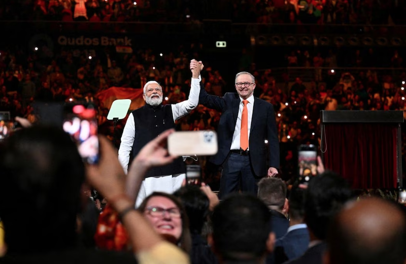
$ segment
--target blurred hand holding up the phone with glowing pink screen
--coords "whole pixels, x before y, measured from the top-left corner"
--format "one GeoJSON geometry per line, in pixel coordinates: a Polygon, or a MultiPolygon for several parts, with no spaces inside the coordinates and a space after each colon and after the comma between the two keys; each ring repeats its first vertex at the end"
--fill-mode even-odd
{"type": "Polygon", "coordinates": [[[105,138],[99,137],[100,160],[97,165],[86,165],[88,182],[107,200],[125,192],[125,174],[116,150],[105,138]]]}

